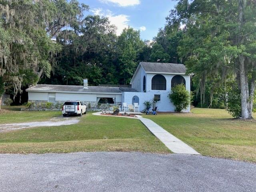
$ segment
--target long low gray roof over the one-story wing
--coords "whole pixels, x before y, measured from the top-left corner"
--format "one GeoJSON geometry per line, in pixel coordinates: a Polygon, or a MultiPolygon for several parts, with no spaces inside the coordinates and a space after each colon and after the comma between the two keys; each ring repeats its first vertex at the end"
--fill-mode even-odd
{"type": "Polygon", "coordinates": [[[33,87],[26,89],[26,91],[30,92],[92,92],[92,93],[121,93],[121,92],[138,92],[133,88],[126,87],[104,87],[104,86],[88,86],[88,89],[84,89],[84,86],[76,86],[76,85],[46,85],[39,84],[33,87]]]}

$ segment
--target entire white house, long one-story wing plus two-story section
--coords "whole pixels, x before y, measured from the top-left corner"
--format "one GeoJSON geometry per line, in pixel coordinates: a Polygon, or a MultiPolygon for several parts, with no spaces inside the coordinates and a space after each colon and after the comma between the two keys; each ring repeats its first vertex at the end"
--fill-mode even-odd
{"type": "MultiPolygon", "coordinates": [[[[130,84],[127,87],[45,85],[38,84],[28,88],[28,100],[35,102],[64,102],[66,100],[81,100],[97,104],[101,99],[110,103],[139,103],[140,109],[145,108],[146,100],[157,98],[158,111],[173,112],[175,107],[168,98],[168,93],[175,84],[183,83],[190,91],[190,75],[186,75],[183,64],[140,62],[130,84]]],[[[189,112],[190,106],[184,112],[189,112]]]]}

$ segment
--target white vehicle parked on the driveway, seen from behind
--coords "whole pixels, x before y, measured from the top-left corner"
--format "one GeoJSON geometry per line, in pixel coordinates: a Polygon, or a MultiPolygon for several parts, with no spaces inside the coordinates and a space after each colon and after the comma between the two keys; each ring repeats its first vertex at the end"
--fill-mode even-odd
{"type": "Polygon", "coordinates": [[[62,115],[66,117],[67,115],[76,114],[82,116],[86,114],[86,106],[81,101],[66,101],[62,106],[62,115]]]}

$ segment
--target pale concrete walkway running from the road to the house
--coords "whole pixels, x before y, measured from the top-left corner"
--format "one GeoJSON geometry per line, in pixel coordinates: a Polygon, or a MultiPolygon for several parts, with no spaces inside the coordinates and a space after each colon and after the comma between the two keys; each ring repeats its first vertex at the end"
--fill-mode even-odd
{"type": "MultiPolygon", "coordinates": [[[[101,112],[93,113],[93,115],[100,115],[100,116],[106,116],[101,115],[101,112]]],[[[116,117],[124,117],[124,116],[116,116],[116,117]]],[[[179,154],[193,154],[193,155],[200,155],[196,150],[194,150],[192,147],[188,146],[186,143],[182,142],[182,140],[179,140],[172,134],[170,134],[168,131],[164,130],[161,126],[156,124],[154,121],[143,118],[140,115],[137,115],[138,118],[147,128],[156,136],[162,143],[170,149],[174,153],[179,154]]],[[[129,117],[134,118],[134,117],[129,117]]]]}

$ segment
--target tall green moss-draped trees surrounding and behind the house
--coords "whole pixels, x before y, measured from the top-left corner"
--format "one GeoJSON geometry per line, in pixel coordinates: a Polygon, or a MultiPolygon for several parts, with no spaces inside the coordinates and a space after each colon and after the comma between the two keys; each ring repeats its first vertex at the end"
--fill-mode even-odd
{"type": "Polygon", "coordinates": [[[195,105],[252,118],[254,0],[178,0],[152,42],[131,27],[117,36],[88,10],[77,0],[0,0],[0,98],[38,82],[129,84],[140,61],[172,62],[194,74],[195,105]]]}

